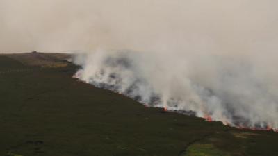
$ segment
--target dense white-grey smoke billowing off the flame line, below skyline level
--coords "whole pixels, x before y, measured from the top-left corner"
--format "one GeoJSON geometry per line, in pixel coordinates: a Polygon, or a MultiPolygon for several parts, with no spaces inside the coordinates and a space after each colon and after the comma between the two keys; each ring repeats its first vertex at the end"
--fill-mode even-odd
{"type": "Polygon", "coordinates": [[[277,79],[248,59],[97,51],[76,58],[87,83],[165,107],[247,128],[277,128],[277,79]],[[80,62],[80,59],[82,60],[80,62]]]}

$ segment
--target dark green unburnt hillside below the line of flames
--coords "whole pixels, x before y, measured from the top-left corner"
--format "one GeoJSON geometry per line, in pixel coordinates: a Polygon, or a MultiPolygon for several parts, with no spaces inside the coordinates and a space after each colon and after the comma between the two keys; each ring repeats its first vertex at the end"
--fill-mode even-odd
{"type": "MultiPolygon", "coordinates": [[[[10,68],[30,67],[0,55],[0,72],[10,68]]],[[[275,132],[146,108],[75,80],[75,69],[0,74],[0,155],[278,155],[275,132]]]]}

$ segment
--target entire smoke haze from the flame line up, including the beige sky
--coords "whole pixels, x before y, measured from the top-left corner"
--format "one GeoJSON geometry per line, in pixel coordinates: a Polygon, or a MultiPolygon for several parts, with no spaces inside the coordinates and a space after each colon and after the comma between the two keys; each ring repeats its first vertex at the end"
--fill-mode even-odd
{"type": "Polygon", "coordinates": [[[0,0],[0,51],[82,51],[76,76],[142,103],[278,128],[278,1],[0,0]]]}

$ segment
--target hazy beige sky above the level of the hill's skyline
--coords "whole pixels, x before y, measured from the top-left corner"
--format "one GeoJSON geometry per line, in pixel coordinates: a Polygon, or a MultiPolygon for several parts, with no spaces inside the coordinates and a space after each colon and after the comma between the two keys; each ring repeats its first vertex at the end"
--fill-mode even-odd
{"type": "Polygon", "coordinates": [[[0,51],[181,51],[192,46],[195,51],[248,53],[243,50],[253,44],[275,46],[277,4],[275,0],[0,0],[0,51]]]}

